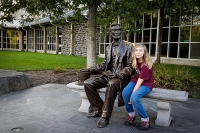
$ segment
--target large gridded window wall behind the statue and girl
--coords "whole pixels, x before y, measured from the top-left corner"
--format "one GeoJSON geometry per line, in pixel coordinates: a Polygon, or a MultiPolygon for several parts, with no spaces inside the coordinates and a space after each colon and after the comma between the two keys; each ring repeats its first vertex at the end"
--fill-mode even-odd
{"type": "MultiPolygon", "coordinates": [[[[164,17],[161,57],[200,59],[199,18],[196,14],[180,17],[172,14],[164,17]]],[[[158,12],[143,14],[136,22],[137,32],[129,33],[127,37],[127,41],[144,43],[152,57],[156,53],[157,21],[158,12]]],[[[108,43],[105,38],[101,42],[108,43]]],[[[100,45],[100,54],[104,52],[104,45],[100,45]]]]}

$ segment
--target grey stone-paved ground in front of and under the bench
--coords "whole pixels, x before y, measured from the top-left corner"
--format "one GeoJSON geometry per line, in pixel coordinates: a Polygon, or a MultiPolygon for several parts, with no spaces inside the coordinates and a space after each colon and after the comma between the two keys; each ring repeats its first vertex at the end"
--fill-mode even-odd
{"type": "MultiPolygon", "coordinates": [[[[77,111],[81,103],[78,93],[65,85],[46,84],[0,95],[0,133],[140,133],[135,124],[123,124],[127,117],[124,107],[115,105],[110,124],[97,128],[98,118],[87,118],[77,111]],[[15,129],[16,128],[16,129],[15,129]]],[[[143,99],[151,128],[145,133],[199,133],[200,100],[189,99],[172,103],[170,127],[154,124],[156,102],[143,99]]]]}

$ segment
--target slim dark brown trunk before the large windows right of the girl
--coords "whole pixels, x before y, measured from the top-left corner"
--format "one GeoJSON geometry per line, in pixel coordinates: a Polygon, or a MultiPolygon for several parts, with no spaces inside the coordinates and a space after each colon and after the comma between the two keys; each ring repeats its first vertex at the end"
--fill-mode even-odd
{"type": "Polygon", "coordinates": [[[163,21],[164,21],[164,7],[160,7],[160,20],[159,20],[159,35],[158,35],[158,51],[157,62],[160,63],[161,49],[162,49],[162,33],[163,33],[163,21]]]}

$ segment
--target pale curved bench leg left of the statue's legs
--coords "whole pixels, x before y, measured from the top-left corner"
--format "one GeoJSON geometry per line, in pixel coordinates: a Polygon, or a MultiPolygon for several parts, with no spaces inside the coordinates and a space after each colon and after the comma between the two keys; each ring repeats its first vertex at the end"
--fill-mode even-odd
{"type": "Polygon", "coordinates": [[[81,96],[82,102],[81,102],[81,106],[79,107],[78,111],[88,113],[90,103],[88,101],[86,93],[84,91],[82,91],[82,92],[79,92],[79,94],[81,96]]]}

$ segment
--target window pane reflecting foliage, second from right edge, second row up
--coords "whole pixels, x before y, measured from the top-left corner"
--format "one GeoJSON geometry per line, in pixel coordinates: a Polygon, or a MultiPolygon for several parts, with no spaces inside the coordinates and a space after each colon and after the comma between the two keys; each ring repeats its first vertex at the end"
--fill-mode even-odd
{"type": "Polygon", "coordinates": [[[180,42],[189,42],[190,40],[190,27],[181,27],[180,42]]]}

